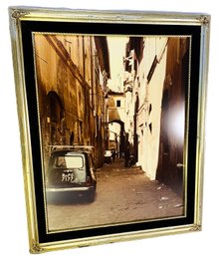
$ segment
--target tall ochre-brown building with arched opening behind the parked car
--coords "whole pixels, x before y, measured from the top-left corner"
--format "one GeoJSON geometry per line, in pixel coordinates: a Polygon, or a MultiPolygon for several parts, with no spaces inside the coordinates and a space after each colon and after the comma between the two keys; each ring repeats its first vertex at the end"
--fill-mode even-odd
{"type": "Polygon", "coordinates": [[[50,145],[86,144],[95,146],[101,165],[109,78],[106,37],[34,34],[34,49],[45,161],[50,145]]]}

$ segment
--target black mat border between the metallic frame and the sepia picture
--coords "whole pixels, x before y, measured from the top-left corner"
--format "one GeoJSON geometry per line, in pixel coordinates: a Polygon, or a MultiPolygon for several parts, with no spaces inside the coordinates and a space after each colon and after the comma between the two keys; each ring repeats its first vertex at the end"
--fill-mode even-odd
{"type": "Polygon", "coordinates": [[[147,24],[117,24],[117,23],[84,23],[84,22],[46,22],[21,21],[25,84],[29,112],[29,125],[32,143],[32,157],[34,167],[35,195],[37,204],[39,242],[66,241],[69,239],[87,238],[109,234],[128,233],[164,227],[175,227],[192,224],[194,222],[195,204],[195,171],[196,171],[196,137],[197,110],[199,93],[199,64],[200,64],[200,26],[190,25],[147,25],[147,24]],[[108,227],[96,227],[85,230],[46,233],[45,208],[42,184],[42,166],[40,152],[40,137],[38,127],[37,97],[34,77],[33,32],[50,33],[79,33],[79,34],[108,34],[108,35],[169,35],[192,37],[191,51],[191,80],[190,80],[190,111],[188,134],[188,179],[187,179],[187,213],[186,217],[168,220],[151,220],[140,223],[129,223],[108,227]]]}

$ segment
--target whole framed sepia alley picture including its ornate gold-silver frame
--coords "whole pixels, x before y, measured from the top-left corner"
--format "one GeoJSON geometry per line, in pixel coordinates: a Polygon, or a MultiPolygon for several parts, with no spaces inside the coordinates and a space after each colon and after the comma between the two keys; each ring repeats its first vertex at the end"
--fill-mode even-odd
{"type": "Polygon", "coordinates": [[[201,230],[210,16],[9,15],[30,251],[201,230]]]}

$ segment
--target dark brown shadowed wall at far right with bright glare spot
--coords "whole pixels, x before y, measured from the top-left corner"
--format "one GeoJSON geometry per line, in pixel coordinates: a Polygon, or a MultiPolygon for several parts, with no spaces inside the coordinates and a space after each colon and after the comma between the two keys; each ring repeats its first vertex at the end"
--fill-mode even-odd
{"type": "Polygon", "coordinates": [[[186,114],[190,38],[169,38],[162,91],[159,160],[156,177],[183,195],[186,175],[186,114]]]}

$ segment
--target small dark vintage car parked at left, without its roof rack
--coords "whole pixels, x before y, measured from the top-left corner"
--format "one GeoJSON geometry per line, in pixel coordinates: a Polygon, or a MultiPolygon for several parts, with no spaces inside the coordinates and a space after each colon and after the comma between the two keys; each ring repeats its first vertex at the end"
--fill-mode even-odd
{"type": "Polygon", "coordinates": [[[92,154],[83,149],[57,149],[51,153],[47,173],[48,199],[84,196],[94,201],[97,178],[92,154]]]}

